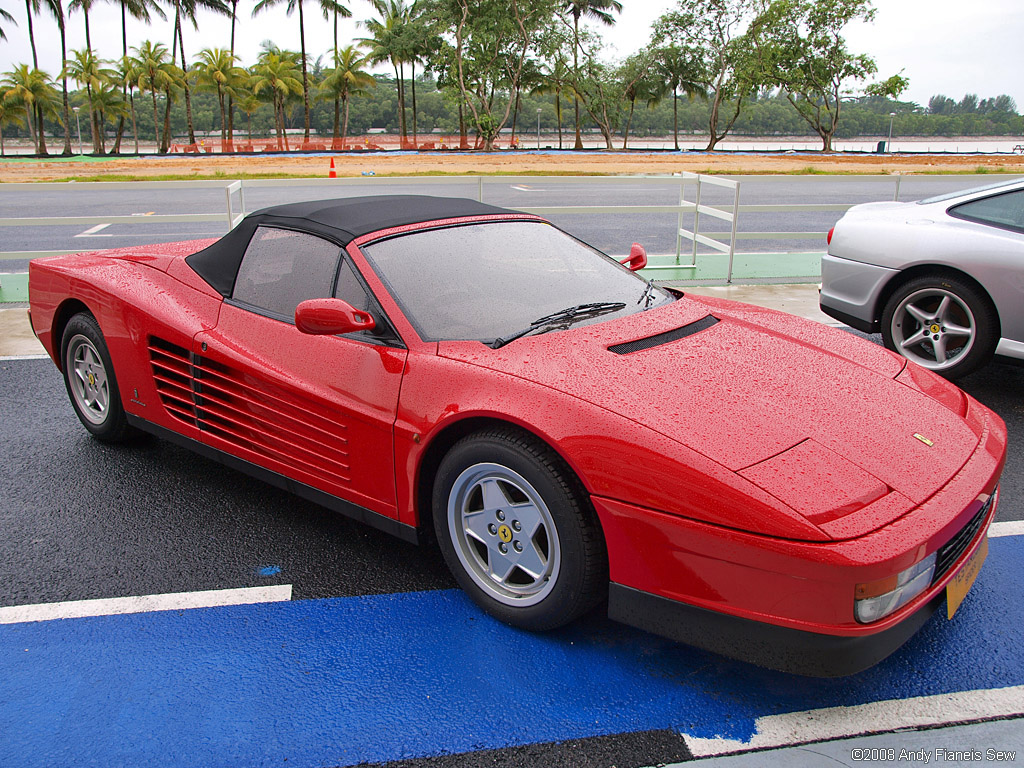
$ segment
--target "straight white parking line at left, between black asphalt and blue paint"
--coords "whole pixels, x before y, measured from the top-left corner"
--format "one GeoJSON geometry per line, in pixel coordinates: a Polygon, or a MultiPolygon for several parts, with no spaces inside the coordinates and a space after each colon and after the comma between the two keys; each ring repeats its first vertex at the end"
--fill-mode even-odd
{"type": "Polygon", "coordinates": [[[0,608],[0,624],[49,622],[54,618],[84,618],[119,613],[146,613],[157,610],[213,608],[222,605],[251,605],[292,599],[292,585],[245,587],[233,590],[175,592],[166,595],[112,597],[99,600],[74,600],[62,603],[10,605],[0,608]]]}

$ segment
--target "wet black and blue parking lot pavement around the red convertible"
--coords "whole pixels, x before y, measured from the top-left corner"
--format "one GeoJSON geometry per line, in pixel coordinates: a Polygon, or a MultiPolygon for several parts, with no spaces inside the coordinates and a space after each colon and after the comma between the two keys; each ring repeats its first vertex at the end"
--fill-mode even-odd
{"type": "MultiPolygon", "coordinates": [[[[813,290],[801,288],[805,304],[813,290]]],[[[995,364],[964,382],[1004,416],[1014,444],[1022,371],[995,364]]],[[[865,673],[808,680],[600,611],[555,633],[511,630],[450,589],[429,548],[169,443],[92,441],[47,360],[0,362],[0,605],[79,616],[0,609],[0,765],[626,768],[693,757],[801,765],[815,755],[854,765],[842,741],[817,742],[1024,714],[1019,522],[999,523],[1008,536],[992,539],[952,621],[940,612],[865,673]],[[185,590],[216,594],[166,602],[185,590]],[[225,604],[240,590],[275,597],[225,604]],[[110,607],[157,593],[130,601],[143,612],[110,607]],[[61,600],[77,605],[53,604],[61,600]],[[748,754],[714,757],[737,752],[748,754]]],[[[1024,517],[1015,456],[1000,519],[1024,517]]],[[[1012,751],[1021,722],[949,732],[1012,751]]],[[[866,738],[887,749],[962,743],[911,740],[942,732],[866,738]]]]}

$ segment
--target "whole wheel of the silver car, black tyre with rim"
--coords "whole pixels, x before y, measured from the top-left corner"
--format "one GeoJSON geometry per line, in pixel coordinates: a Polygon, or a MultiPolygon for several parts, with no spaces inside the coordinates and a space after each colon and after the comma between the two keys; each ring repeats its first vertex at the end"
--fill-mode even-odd
{"type": "Polygon", "coordinates": [[[999,340],[988,297],[963,279],[925,275],[901,286],[882,313],[886,346],[947,379],[978,370],[999,340]]]}

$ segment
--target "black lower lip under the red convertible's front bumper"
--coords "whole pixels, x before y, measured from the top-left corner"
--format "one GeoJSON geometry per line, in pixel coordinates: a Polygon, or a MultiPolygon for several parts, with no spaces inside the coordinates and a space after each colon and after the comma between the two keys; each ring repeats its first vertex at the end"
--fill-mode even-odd
{"type": "Polygon", "coordinates": [[[859,637],[821,635],[730,616],[611,584],[608,617],[687,645],[781,672],[844,677],[873,667],[905,643],[942,605],[940,592],[895,627],[859,637]]]}

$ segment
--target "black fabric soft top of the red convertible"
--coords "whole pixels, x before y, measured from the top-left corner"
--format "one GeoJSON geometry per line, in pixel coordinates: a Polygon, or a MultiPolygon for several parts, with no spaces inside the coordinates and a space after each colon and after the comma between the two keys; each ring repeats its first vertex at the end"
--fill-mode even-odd
{"type": "Polygon", "coordinates": [[[299,229],[346,246],[364,234],[394,226],[461,216],[515,213],[518,211],[475,200],[426,195],[382,195],[288,203],[250,213],[223,238],[187,256],[185,261],[214,290],[223,296],[230,296],[242,256],[257,226],[299,229]]]}

